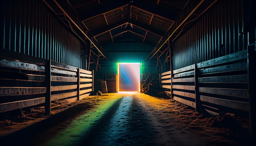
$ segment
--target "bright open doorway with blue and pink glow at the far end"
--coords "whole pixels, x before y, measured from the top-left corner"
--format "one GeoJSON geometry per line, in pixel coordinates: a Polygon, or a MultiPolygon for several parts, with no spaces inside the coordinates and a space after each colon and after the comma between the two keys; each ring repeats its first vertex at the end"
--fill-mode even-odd
{"type": "Polygon", "coordinates": [[[140,91],[140,64],[119,63],[119,91],[140,91]]]}

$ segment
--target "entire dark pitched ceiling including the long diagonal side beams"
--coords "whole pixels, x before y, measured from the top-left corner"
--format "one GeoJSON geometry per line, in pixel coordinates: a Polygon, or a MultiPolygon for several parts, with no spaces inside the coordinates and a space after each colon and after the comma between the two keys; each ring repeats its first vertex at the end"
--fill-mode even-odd
{"type": "Polygon", "coordinates": [[[180,25],[189,16],[198,17],[193,12],[203,13],[217,0],[43,1],[89,48],[95,47],[105,57],[102,46],[115,42],[142,42],[155,47],[154,52],[168,48],[166,41],[180,25]],[[195,11],[200,4],[203,7],[195,11]]]}

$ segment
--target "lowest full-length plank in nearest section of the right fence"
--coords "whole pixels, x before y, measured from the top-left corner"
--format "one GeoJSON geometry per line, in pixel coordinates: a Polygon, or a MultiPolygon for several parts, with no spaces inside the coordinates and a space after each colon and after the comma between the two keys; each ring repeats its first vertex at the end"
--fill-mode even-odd
{"type": "Polygon", "coordinates": [[[235,108],[243,111],[249,111],[249,103],[248,102],[240,102],[240,101],[234,101],[234,100],[226,100],[226,99],[220,99],[215,97],[209,97],[200,95],[200,100],[203,102],[209,102],[212,104],[217,104],[220,106],[226,106],[229,108],[235,108]]]}

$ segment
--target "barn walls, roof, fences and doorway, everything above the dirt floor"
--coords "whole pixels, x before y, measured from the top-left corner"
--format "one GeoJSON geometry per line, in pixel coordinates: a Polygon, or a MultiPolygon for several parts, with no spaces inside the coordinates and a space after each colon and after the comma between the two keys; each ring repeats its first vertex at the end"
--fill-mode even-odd
{"type": "Polygon", "coordinates": [[[0,114],[43,106],[51,115],[56,101],[132,91],[201,113],[243,116],[255,137],[255,6],[2,0],[0,114]]]}

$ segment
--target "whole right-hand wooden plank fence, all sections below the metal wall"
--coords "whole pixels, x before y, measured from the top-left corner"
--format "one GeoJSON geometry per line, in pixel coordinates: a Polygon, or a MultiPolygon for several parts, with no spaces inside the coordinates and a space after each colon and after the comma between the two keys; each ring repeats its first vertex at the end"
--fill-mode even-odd
{"type": "Polygon", "coordinates": [[[249,111],[247,50],[161,74],[172,99],[210,111],[249,111]],[[167,75],[172,76],[166,80],[167,75]],[[170,82],[172,81],[172,82],[170,82]],[[197,88],[198,91],[197,91],[197,88]],[[200,103],[198,105],[198,103],[200,103]]]}

